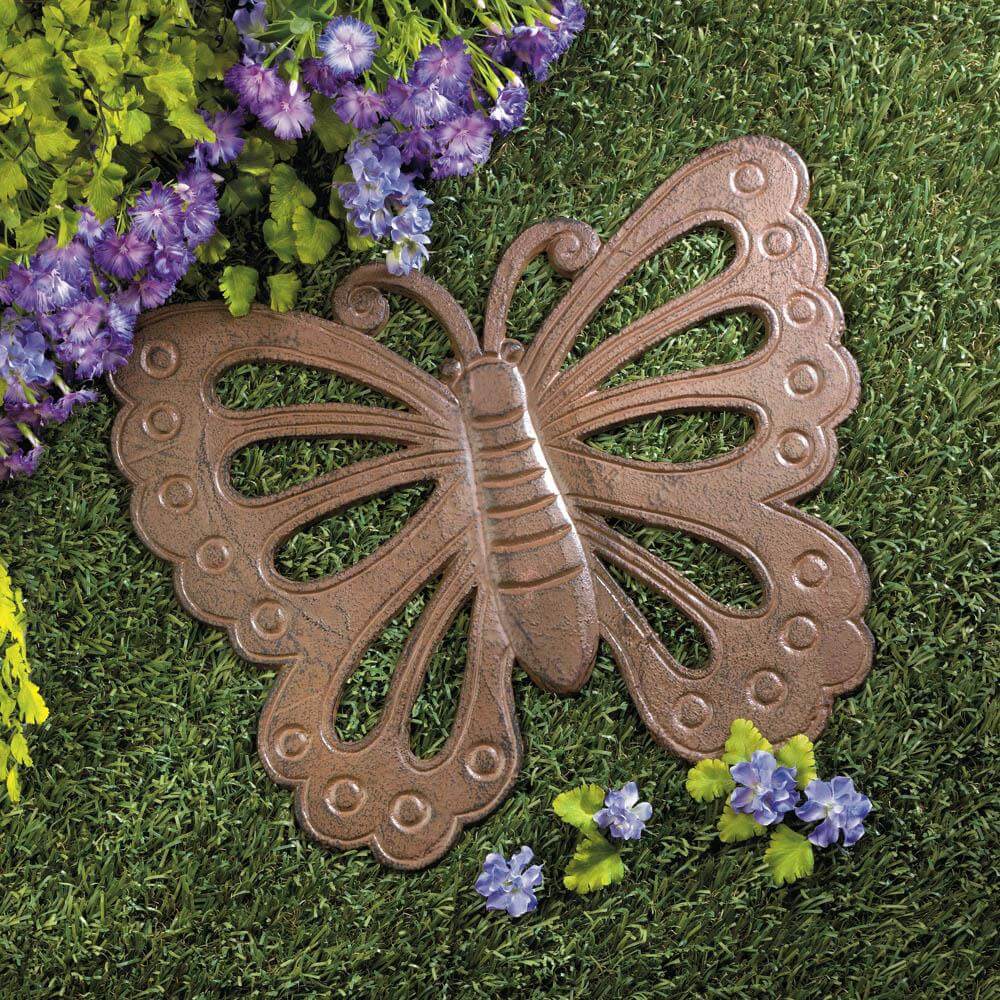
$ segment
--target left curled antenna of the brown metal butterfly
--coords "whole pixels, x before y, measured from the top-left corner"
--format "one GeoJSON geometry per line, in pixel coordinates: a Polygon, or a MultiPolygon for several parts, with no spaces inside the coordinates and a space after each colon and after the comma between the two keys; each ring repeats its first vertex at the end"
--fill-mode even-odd
{"type": "Polygon", "coordinates": [[[483,353],[465,310],[450,292],[417,271],[400,275],[392,274],[384,264],[359,267],[333,293],[334,318],[362,333],[374,333],[389,319],[389,302],[383,292],[420,303],[444,327],[462,361],[483,353]]]}

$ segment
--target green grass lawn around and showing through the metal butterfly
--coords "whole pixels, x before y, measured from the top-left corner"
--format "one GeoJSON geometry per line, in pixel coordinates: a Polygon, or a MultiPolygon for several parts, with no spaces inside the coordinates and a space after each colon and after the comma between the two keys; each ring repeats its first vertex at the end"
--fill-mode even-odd
{"type": "MultiPolygon", "coordinates": [[[[0,809],[4,998],[1000,995],[990,586],[1000,8],[593,6],[588,30],[537,88],[529,127],[474,178],[432,191],[431,273],[478,317],[499,255],[531,222],[569,215],[607,237],[716,142],[767,133],[800,151],[864,384],[840,429],[836,471],[804,506],[863,553],[877,642],[867,682],[837,702],[818,753],[823,771],[853,776],[874,800],[869,835],[851,852],[818,855],[811,879],[773,888],[762,845],[715,838],[709,809],[684,791],[685,765],[646,735],[602,653],[577,697],[516,678],[520,780],[439,864],[400,874],[367,851],[317,848],[257,759],[273,673],[189,618],[169,567],[133,535],[105,400],[53,435],[39,475],[0,491],[0,550],[29,602],[36,678],[52,709],[31,734],[23,801],[0,809]],[[550,811],[553,796],[630,778],[655,814],[625,882],[568,893],[561,870],[573,841],[550,811]],[[546,862],[542,904],[520,921],[487,915],[471,888],[479,864],[521,844],[546,862]]],[[[256,263],[259,238],[230,235],[256,263]]],[[[718,270],[724,253],[708,233],[654,258],[588,344],[718,270]]],[[[302,308],[329,315],[331,288],[356,263],[338,250],[317,267],[302,308]]],[[[514,331],[530,336],[562,287],[533,267],[514,331]]],[[[744,316],[712,321],[631,374],[736,358],[759,332],[744,316]]],[[[439,331],[413,310],[383,339],[429,370],[445,355],[439,331]]],[[[275,369],[238,372],[225,390],[244,405],[365,398],[275,369]]],[[[682,460],[746,433],[733,416],[685,417],[598,443],[682,460]]],[[[369,449],[262,447],[239,456],[236,477],[268,492],[369,449]]],[[[422,495],[414,488],[301,534],[283,565],[308,577],[356,561],[422,495]]],[[[639,537],[720,599],[754,602],[753,578],[711,546],[648,529],[639,537]]],[[[364,732],[377,716],[424,599],[369,653],[342,732],[364,732]]],[[[696,662],[699,635],[641,599],[671,648],[696,662]]],[[[463,655],[453,629],[415,711],[424,752],[443,739],[463,655]]]]}

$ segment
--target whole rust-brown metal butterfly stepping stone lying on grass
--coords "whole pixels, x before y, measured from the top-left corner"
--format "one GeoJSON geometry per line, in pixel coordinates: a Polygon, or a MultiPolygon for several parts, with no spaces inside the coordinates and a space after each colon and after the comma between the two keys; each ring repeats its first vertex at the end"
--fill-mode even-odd
{"type": "Polygon", "coordinates": [[[481,341],[435,282],[377,265],[338,288],[333,323],[266,309],[234,319],[221,304],[204,304],[163,309],[143,324],[131,363],[113,380],[123,403],[114,452],[135,485],[136,530],[174,564],[192,614],[227,628],[247,659],[282,667],[260,720],[260,755],[275,781],[294,788],[299,821],[316,840],[367,844],[385,863],[419,868],[494,809],[521,761],[515,660],[543,687],[571,692],[586,682],[603,639],[650,732],[689,760],[718,753],[740,716],[774,741],[816,736],[833,697],[860,683],[872,653],[861,620],[864,565],[843,536],[791,505],[830,472],[834,428],[858,398],[807,197],[795,152],[752,137],[681,169],[604,245],[582,223],[534,226],[500,264],[481,341]],[[563,368],[627,275],[703,225],[731,234],[728,268],[563,368]],[[507,339],[507,311],[543,252],[572,284],[525,349],[507,339]],[[448,331],[454,359],[440,379],[370,335],[388,316],[386,293],[420,302],[448,331]],[[737,309],[766,325],[749,357],[603,387],[650,346],[737,309]],[[226,409],[215,382],[250,360],[335,372],[407,409],[226,409]],[[748,414],[755,434],[736,451],[686,464],[632,461],[584,443],[624,421],[697,409],[748,414]],[[277,496],[236,493],[233,454],[288,437],[402,447],[277,496]],[[276,550],[302,527],[428,479],[435,489],[424,506],[358,565],[311,583],[276,570],[276,550]],[[717,603],[608,518],[722,546],[762,582],[761,605],[717,603]],[[691,670],[671,657],[609,566],[698,626],[710,648],[706,665],[691,670]],[[378,725],[364,740],[340,741],[334,719],[347,678],[386,623],[435,579],[378,725]],[[421,759],[410,749],[410,710],[436,646],[473,594],[454,729],[440,753],[421,759]]]}

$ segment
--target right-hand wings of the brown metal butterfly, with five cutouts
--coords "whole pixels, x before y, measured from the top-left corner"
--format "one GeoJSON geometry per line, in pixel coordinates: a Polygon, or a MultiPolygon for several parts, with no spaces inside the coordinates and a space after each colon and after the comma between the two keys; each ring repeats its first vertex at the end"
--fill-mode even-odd
{"type": "Polygon", "coordinates": [[[748,138],[708,150],[632,216],[576,278],[525,355],[547,454],[591,546],[602,634],[653,734],[686,757],[717,752],[750,716],[775,739],[822,728],[833,695],[871,661],[861,621],[864,565],[837,532],[789,506],[836,458],[836,425],[857,402],[843,317],[824,285],[826,250],[805,214],[808,176],[788,146],[748,138]],[[636,320],[577,364],[560,365],[597,307],[643,260],[690,229],[724,227],[735,259],[718,277],[636,320]],[[767,338],[734,364],[600,384],[664,338],[736,309],[767,338]],[[750,442],[705,462],[637,462],[601,453],[591,434],[671,410],[753,416],[750,442]],[[764,584],[763,606],[737,612],[612,531],[604,517],[677,528],[728,549],[764,584]],[[652,634],[600,561],[674,601],[705,633],[707,668],[687,670],[652,634]]]}

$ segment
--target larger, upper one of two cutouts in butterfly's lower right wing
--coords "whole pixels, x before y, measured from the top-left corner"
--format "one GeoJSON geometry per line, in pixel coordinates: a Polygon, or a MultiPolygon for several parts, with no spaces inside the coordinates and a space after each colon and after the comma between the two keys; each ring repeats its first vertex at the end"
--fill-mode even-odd
{"type": "Polygon", "coordinates": [[[685,531],[608,518],[608,527],[682,573],[719,604],[752,611],[764,603],[764,584],[738,556],[685,531]]]}

